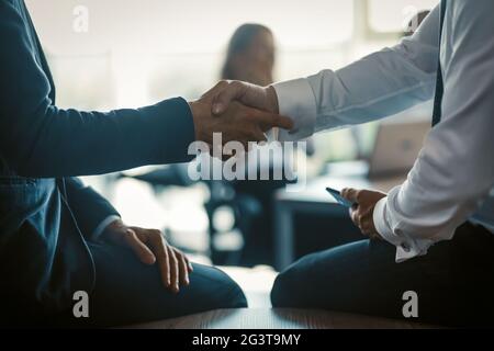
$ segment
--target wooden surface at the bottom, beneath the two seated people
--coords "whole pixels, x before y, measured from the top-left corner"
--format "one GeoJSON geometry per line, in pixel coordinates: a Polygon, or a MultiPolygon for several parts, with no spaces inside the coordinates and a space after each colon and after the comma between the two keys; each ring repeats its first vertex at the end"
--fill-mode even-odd
{"type": "Polygon", "coordinates": [[[420,329],[430,326],[343,313],[289,309],[217,309],[130,328],[146,329],[420,329]]]}

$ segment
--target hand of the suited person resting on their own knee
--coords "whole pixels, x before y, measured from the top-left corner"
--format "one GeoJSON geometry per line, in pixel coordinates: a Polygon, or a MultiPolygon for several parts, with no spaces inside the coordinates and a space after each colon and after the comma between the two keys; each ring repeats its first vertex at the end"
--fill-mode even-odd
{"type": "Polygon", "coordinates": [[[158,261],[162,283],[172,292],[178,293],[180,285],[189,285],[192,264],[181,251],[167,244],[160,230],[127,227],[117,219],[104,229],[103,236],[134,251],[145,264],[158,261]]]}

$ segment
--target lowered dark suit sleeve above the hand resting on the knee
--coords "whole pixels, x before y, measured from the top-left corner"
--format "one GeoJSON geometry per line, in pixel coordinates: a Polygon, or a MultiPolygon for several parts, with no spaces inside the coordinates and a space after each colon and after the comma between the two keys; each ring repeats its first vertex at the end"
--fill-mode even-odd
{"type": "Polygon", "coordinates": [[[66,178],[65,186],[67,202],[77,219],[79,229],[87,239],[97,240],[101,234],[100,225],[106,218],[120,217],[119,212],[106,199],[91,186],[85,185],[80,179],[66,178]]]}

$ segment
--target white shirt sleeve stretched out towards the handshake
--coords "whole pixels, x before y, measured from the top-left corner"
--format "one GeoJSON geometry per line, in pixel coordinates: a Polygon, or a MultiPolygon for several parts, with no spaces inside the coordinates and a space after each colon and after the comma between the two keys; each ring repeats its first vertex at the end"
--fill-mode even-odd
{"type": "Polygon", "coordinates": [[[434,94],[439,46],[439,7],[417,32],[391,48],[339,70],[273,84],[280,113],[294,120],[280,140],[393,115],[434,94]]]}

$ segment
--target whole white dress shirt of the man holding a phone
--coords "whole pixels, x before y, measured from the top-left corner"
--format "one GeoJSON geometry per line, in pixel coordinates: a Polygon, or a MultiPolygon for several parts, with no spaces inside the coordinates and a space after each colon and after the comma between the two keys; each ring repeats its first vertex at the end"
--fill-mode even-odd
{"type": "MultiPolygon", "coordinates": [[[[440,52],[441,122],[407,180],[374,208],[375,227],[396,246],[397,262],[451,239],[494,185],[493,13],[492,0],[450,0],[440,43],[437,7],[394,47],[340,70],[274,84],[280,113],[295,120],[294,131],[280,133],[280,139],[301,139],[433,99],[440,52]]],[[[494,213],[487,217],[494,219],[494,213]]]]}

